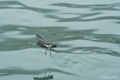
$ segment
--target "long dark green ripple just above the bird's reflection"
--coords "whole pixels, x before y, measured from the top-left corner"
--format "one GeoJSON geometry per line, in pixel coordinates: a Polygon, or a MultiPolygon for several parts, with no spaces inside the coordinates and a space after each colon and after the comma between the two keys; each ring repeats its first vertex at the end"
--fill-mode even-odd
{"type": "Polygon", "coordinates": [[[0,76],[8,76],[8,75],[36,75],[36,74],[42,74],[45,72],[58,72],[58,73],[63,73],[63,74],[68,74],[68,75],[75,75],[73,73],[69,73],[66,71],[62,71],[59,69],[52,69],[52,68],[46,68],[46,69],[40,69],[40,70],[26,70],[26,69],[21,69],[17,67],[12,67],[12,68],[6,68],[6,69],[0,69],[0,76]]]}

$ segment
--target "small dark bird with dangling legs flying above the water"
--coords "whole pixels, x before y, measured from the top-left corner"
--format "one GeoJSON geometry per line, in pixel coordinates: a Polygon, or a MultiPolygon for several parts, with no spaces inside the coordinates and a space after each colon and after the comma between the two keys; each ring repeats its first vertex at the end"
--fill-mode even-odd
{"type": "Polygon", "coordinates": [[[52,45],[51,43],[47,43],[43,40],[43,38],[39,35],[36,34],[36,38],[38,40],[37,46],[40,46],[41,48],[46,48],[45,55],[47,54],[47,50],[50,49],[50,56],[52,57],[51,51],[54,51],[56,53],[59,53],[58,51],[54,50],[53,48],[56,48],[57,45],[52,45]]]}

